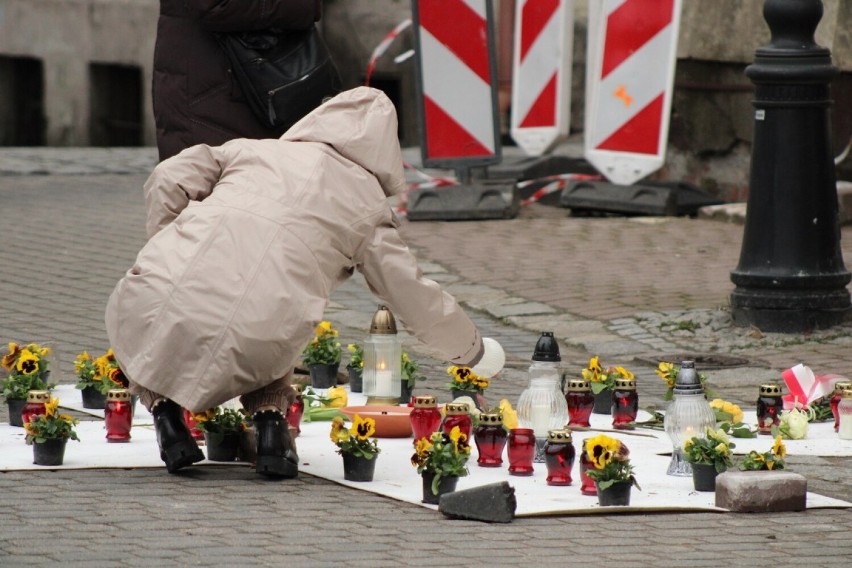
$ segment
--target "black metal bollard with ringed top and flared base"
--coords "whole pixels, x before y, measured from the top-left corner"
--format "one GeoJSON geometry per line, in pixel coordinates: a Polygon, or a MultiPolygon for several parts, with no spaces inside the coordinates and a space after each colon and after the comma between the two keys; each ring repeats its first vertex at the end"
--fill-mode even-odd
{"type": "Polygon", "coordinates": [[[799,333],[842,323],[850,274],[840,250],[831,147],[831,53],[817,45],[821,0],[765,0],[772,32],[746,75],[755,85],[754,145],[734,323],[799,333]]]}

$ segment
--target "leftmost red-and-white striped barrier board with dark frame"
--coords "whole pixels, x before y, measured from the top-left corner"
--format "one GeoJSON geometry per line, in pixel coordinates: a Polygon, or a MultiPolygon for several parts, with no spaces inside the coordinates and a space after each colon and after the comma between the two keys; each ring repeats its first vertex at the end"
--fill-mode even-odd
{"type": "Polygon", "coordinates": [[[492,2],[413,0],[426,167],[500,161],[492,2]]]}

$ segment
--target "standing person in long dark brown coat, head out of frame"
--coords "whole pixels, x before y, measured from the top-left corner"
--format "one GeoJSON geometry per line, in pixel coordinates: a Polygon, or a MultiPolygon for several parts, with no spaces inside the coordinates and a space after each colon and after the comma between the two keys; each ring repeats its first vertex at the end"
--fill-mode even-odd
{"type": "Polygon", "coordinates": [[[322,16],[322,0],[160,0],[153,100],[160,160],[196,144],[278,138],[262,124],[228,72],[215,32],[305,30],[322,16]]]}

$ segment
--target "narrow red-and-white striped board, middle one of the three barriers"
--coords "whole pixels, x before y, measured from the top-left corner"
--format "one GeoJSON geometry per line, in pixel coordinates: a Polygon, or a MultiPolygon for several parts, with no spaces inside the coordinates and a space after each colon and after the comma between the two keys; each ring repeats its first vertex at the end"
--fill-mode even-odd
{"type": "Polygon", "coordinates": [[[573,0],[518,0],[510,125],[529,156],[568,136],[573,40],[573,0]]]}

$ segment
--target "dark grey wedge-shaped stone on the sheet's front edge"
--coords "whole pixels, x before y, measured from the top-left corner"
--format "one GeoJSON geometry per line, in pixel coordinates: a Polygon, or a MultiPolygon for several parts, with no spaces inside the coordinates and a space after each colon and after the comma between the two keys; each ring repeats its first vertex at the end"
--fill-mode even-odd
{"type": "Polygon", "coordinates": [[[438,510],[456,519],[509,523],[515,516],[517,505],[515,488],[501,481],[445,493],[441,495],[438,510]]]}

